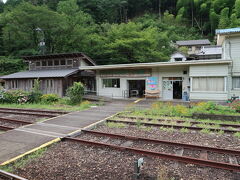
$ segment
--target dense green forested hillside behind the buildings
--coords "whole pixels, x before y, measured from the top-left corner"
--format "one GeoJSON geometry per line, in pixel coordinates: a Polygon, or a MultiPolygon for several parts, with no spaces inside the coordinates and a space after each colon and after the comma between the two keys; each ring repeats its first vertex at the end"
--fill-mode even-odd
{"type": "Polygon", "coordinates": [[[0,56],[84,52],[98,64],[166,61],[171,42],[240,26],[240,0],[8,0],[0,12],[0,56]]]}

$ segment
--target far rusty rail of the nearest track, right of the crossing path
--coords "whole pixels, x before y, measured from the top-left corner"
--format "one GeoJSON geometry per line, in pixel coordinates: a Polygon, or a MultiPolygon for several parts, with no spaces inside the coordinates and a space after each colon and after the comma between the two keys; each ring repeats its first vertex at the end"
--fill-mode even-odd
{"type": "Polygon", "coordinates": [[[107,136],[107,137],[125,138],[127,140],[146,141],[146,142],[152,142],[152,143],[181,146],[181,147],[188,148],[188,149],[197,149],[197,150],[212,151],[212,152],[223,153],[223,154],[240,155],[240,151],[232,150],[232,149],[214,148],[214,147],[209,147],[209,146],[199,146],[199,145],[193,145],[193,144],[178,143],[178,142],[173,142],[173,141],[149,139],[149,138],[137,137],[137,136],[126,136],[126,135],[121,135],[121,134],[105,133],[105,132],[92,131],[92,130],[82,130],[82,132],[100,135],[100,136],[107,136]]]}

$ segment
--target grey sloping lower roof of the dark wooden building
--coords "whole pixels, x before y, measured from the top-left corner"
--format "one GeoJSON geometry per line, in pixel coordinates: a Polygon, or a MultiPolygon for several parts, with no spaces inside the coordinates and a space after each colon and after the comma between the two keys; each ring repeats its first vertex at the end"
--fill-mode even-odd
{"type": "Polygon", "coordinates": [[[67,77],[77,73],[78,69],[48,69],[48,70],[35,70],[35,71],[24,71],[17,72],[2,76],[2,79],[28,79],[28,78],[59,78],[67,77]]]}

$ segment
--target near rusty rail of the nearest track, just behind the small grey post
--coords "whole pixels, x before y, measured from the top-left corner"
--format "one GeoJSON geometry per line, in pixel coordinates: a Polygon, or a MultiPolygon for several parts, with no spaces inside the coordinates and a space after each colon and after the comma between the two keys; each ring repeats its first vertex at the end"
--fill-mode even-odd
{"type": "Polygon", "coordinates": [[[148,155],[148,156],[169,159],[174,161],[180,161],[184,163],[190,163],[190,164],[196,164],[201,166],[208,166],[213,168],[220,168],[220,169],[240,172],[240,165],[235,165],[235,164],[215,162],[211,160],[197,159],[197,158],[186,157],[186,156],[178,156],[173,154],[160,153],[160,152],[148,151],[148,150],[137,149],[137,148],[122,147],[122,146],[117,146],[112,144],[101,143],[101,142],[88,141],[88,140],[79,139],[79,138],[65,137],[63,138],[63,140],[69,140],[73,142],[84,143],[84,144],[95,145],[95,146],[104,146],[104,147],[117,149],[120,151],[129,151],[137,154],[148,155]]]}

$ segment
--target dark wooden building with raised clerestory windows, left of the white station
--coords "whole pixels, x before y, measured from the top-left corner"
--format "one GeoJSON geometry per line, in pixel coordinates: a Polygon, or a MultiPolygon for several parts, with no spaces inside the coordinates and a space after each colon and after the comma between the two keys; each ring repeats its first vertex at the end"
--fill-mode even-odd
{"type": "Polygon", "coordinates": [[[39,79],[44,94],[62,97],[73,82],[79,81],[85,85],[85,91],[95,92],[95,74],[92,71],[80,71],[79,67],[96,64],[83,53],[27,56],[23,59],[29,64],[29,71],[1,77],[5,80],[7,90],[30,91],[34,87],[34,79],[39,79]]]}

